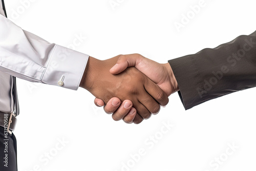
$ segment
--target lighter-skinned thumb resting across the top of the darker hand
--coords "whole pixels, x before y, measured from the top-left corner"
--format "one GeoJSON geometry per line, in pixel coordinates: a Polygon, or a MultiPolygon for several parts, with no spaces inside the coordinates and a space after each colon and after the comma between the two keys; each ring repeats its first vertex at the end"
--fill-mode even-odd
{"type": "Polygon", "coordinates": [[[111,74],[119,74],[128,67],[136,67],[136,64],[141,60],[142,56],[139,54],[121,55],[114,67],[110,69],[111,74]]]}

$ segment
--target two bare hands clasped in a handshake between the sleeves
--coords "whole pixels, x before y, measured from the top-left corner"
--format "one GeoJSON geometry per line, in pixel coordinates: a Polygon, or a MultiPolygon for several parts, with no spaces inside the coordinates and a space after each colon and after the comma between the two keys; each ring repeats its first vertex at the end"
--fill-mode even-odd
{"type": "Polygon", "coordinates": [[[160,64],[140,54],[107,60],[89,57],[80,87],[91,92],[97,106],[114,120],[140,123],[160,111],[168,96],[179,91],[169,63],[160,64]]]}

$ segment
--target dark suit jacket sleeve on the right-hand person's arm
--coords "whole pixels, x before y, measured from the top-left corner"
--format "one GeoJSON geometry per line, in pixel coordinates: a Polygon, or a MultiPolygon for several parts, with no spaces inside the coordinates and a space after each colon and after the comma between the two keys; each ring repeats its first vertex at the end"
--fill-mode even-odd
{"type": "Polygon", "coordinates": [[[256,87],[256,31],[214,49],[168,61],[184,108],[256,87]]]}

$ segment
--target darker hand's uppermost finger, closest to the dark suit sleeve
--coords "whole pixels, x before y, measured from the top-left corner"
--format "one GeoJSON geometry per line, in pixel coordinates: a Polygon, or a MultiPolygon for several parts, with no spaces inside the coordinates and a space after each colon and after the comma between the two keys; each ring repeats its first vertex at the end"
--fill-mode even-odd
{"type": "Polygon", "coordinates": [[[152,80],[146,79],[144,87],[147,93],[150,94],[160,105],[165,106],[168,104],[168,96],[152,80]]]}

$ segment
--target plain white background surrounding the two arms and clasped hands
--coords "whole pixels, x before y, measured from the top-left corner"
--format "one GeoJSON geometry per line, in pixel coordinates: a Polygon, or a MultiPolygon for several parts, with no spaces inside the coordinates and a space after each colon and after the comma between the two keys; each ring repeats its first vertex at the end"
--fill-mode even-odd
{"type": "MultiPolygon", "coordinates": [[[[256,29],[255,1],[205,0],[180,31],[175,22],[181,23],[183,14],[192,16],[190,6],[198,5],[198,0],[114,0],[115,7],[109,0],[24,1],[6,1],[15,24],[65,47],[77,35],[87,37],[75,48],[98,59],[140,53],[166,63],[256,29]]],[[[113,121],[83,89],[18,79],[18,93],[21,114],[14,133],[22,171],[256,170],[256,89],[188,111],[175,93],[166,108],[139,125],[113,121]],[[173,127],[161,133],[168,122],[173,127]],[[150,136],[158,140],[153,142],[150,136]],[[58,139],[68,141],[60,150],[55,147],[58,139]],[[238,148],[232,151],[228,144],[238,148]],[[140,148],[145,152],[138,157],[134,154],[140,148]],[[53,156],[47,163],[42,159],[49,152],[53,156]]]]}

